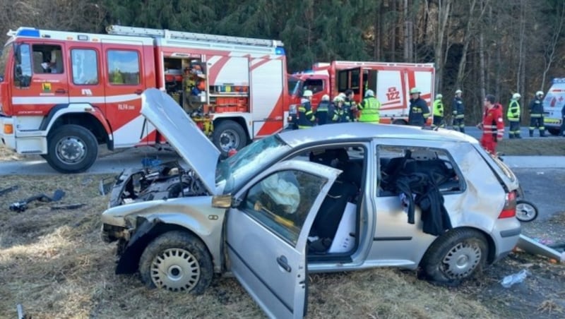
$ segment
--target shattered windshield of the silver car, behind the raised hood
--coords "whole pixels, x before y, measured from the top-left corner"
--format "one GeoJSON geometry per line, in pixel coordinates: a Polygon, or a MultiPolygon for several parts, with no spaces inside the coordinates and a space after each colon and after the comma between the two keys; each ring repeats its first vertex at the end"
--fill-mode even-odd
{"type": "Polygon", "coordinates": [[[290,150],[290,146],[278,135],[268,136],[239,150],[232,157],[224,159],[216,169],[216,183],[225,182],[224,193],[232,193],[239,183],[262,171],[273,160],[290,150]]]}

